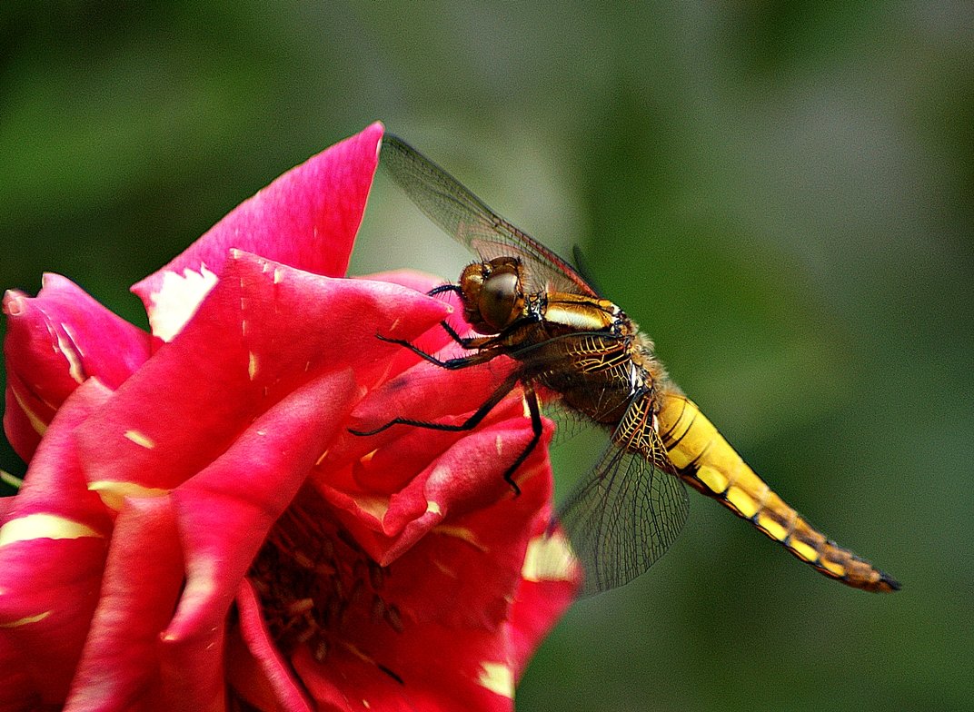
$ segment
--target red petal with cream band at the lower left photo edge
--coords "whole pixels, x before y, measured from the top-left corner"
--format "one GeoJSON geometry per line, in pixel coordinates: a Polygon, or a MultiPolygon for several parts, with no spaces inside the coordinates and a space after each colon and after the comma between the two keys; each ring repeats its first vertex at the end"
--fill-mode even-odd
{"type": "Polygon", "coordinates": [[[65,401],[0,528],[0,638],[49,704],[67,693],[108,548],[110,521],[86,488],[73,437],[108,395],[92,379],[65,401]]]}

